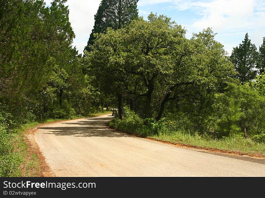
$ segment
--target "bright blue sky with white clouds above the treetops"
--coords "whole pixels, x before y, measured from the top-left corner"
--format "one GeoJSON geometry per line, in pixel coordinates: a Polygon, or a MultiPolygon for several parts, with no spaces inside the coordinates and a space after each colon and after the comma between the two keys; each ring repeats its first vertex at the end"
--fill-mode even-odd
{"type": "MultiPolygon", "coordinates": [[[[47,6],[51,0],[44,0],[47,6]]],[[[94,26],[94,15],[101,0],[68,0],[69,20],[76,38],[73,46],[80,54],[94,26]]],[[[139,0],[139,16],[151,12],[170,17],[187,30],[186,38],[211,27],[215,39],[231,55],[248,33],[257,50],[265,37],[265,0],[139,0]]]]}

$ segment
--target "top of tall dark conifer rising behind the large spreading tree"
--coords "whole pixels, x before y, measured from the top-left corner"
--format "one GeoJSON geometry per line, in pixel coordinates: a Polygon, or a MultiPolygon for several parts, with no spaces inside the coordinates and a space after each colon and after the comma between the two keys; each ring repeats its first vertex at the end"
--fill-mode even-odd
{"type": "Polygon", "coordinates": [[[103,33],[108,27],[114,30],[120,29],[136,19],[138,17],[137,2],[138,0],[102,0],[94,17],[94,28],[84,50],[90,50],[89,46],[95,39],[94,33],[103,33]]]}

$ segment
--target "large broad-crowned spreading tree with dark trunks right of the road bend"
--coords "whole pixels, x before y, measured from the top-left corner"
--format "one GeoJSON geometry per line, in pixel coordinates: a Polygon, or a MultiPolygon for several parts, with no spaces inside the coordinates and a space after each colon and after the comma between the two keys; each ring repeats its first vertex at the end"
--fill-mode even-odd
{"type": "Polygon", "coordinates": [[[134,94],[141,99],[138,113],[157,121],[169,100],[191,95],[191,88],[214,90],[233,73],[211,30],[188,40],[180,25],[153,13],[148,21],[139,18],[99,34],[92,49],[85,64],[101,79],[102,89],[134,94]]]}

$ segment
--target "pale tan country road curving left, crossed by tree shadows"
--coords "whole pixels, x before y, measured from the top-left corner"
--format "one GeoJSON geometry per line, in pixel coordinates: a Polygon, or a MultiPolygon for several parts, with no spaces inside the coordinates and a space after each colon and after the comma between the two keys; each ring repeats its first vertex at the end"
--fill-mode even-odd
{"type": "Polygon", "coordinates": [[[57,177],[264,177],[265,159],[133,137],[109,129],[111,115],[39,127],[35,141],[57,177]]]}

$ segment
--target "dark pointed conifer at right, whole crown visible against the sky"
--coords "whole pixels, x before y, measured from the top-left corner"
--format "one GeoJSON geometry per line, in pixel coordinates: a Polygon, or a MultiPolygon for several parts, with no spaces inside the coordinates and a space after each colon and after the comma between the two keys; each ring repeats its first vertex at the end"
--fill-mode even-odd
{"type": "Polygon", "coordinates": [[[235,70],[238,72],[237,78],[241,83],[252,80],[257,75],[257,71],[254,70],[257,64],[257,55],[257,48],[248,39],[248,33],[246,33],[244,41],[239,44],[239,47],[233,48],[230,56],[235,70]]]}

